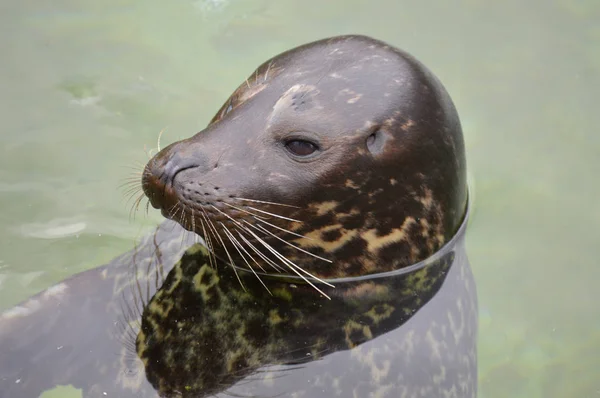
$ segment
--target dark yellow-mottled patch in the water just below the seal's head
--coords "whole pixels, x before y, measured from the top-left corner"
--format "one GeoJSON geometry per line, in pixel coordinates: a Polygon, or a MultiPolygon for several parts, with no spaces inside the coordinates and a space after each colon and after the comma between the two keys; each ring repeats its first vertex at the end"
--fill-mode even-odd
{"type": "Polygon", "coordinates": [[[340,283],[327,289],[331,301],[323,303],[308,285],[276,280],[265,281],[270,296],[248,273],[244,290],[231,268],[217,273],[207,258],[204,248],[184,256],[142,318],[138,354],[166,395],[204,395],[261,366],[319,359],[395,329],[439,289],[449,263],[406,277],[340,283]]]}

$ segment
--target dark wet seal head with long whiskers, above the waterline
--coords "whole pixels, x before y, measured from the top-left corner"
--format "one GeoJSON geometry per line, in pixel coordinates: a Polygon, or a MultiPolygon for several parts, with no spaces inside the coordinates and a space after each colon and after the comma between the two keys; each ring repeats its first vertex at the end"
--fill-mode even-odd
{"type": "Polygon", "coordinates": [[[234,265],[331,278],[437,251],[463,219],[465,169],[438,79],[381,41],[341,36],[265,62],[205,130],[151,159],[142,185],[234,265]]]}

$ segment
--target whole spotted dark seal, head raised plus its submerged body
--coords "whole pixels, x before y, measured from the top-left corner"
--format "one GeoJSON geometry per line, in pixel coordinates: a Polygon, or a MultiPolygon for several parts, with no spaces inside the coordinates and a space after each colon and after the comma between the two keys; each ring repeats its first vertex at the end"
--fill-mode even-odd
{"type": "Polygon", "coordinates": [[[476,396],[462,131],[414,57],[284,52],[142,189],[155,234],[1,315],[3,396],[476,396]]]}

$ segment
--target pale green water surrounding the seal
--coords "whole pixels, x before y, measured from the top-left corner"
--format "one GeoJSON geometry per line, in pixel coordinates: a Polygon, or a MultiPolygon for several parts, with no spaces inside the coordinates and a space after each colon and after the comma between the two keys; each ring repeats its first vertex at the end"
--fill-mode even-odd
{"type": "Polygon", "coordinates": [[[480,396],[600,396],[597,0],[5,1],[0,32],[0,309],[161,220],[130,221],[118,186],[162,129],[201,130],[278,52],[363,33],[461,114],[480,396]]]}

